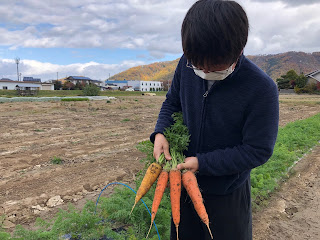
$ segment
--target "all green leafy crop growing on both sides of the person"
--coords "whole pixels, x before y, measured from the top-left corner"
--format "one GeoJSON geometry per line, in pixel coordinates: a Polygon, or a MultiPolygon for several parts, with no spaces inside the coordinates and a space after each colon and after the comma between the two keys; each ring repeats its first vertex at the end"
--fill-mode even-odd
{"type": "MultiPolygon", "coordinates": [[[[310,152],[311,148],[318,145],[319,140],[320,114],[289,123],[279,129],[274,154],[266,164],[253,169],[251,173],[254,209],[263,205],[279,184],[289,177],[292,166],[304,154],[310,152]]],[[[138,145],[140,151],[147,153],[146,158],[143,159],[146,166],[149,165],[152,158],[152,148],[153,145],[150,141],[138,145]]],[[[145,169],[142,169],[140,174],[137,175],[137,186],[140,185],[144,172],[145,169]]],[[[152,205],[154,191],[155,184],[143,197],[149,208],[152,205]]],[[[52,220],[38,219],[38,230],[26,230],[17,226],[13,237],[4,231],[0,231],[0,239],[61,239],[66,234],[73,236],[72,239],[93,240],[106,239],[106,237],[115,240],[145,239],[150,224],[150,215],[145,206],[139,202],[129,216],[134,198],[135,194],[129,189],[117,187],[109,198],[103,196],[100,198],[96,214],[94,213],[95,204],[92,201],[88,201],[82,210],[76,210],[71,205],[67,211],[60,210],[52,220]]],[[[169,192],[166,189],[155,219],[161,239],[170,238],[170,205],[169,192]]],[[[155,227],[152,228],[149,239],[158,239],[155,227]]]]}

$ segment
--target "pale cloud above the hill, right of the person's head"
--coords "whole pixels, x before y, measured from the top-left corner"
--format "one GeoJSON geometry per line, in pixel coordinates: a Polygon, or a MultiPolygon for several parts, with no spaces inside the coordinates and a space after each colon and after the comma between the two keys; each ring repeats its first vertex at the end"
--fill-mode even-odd
{"type": "Polygon", "coordinates": [[[314,5],[288,7],[280,1],[255,0],[244,7],[250,23],[247,53],[319,51],[320,15],[314,5]]]}

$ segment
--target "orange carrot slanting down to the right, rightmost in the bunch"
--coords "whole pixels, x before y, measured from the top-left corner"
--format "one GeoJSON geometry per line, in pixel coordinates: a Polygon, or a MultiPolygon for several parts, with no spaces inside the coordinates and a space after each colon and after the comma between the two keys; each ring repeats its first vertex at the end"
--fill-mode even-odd
{"type": "Polygon", "coordinates": [[[203,204],[203,198],[201,192],[199,190],[197,178],[191,171],[186,171],[182,174],[182,184],[184,188],[187,190],[190,199],[192,200],[194,209],[199,215],[200,219],[207,226],[211,239],[213,239],[210,227],[209,227],[209,217],[206,211],[206,208],[203,204]]]}

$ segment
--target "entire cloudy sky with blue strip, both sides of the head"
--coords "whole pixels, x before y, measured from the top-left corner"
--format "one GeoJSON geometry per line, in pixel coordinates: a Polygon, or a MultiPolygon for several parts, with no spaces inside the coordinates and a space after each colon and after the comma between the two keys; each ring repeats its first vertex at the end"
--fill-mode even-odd
{"type": "MultiPolygon", "coordinates": [[[[0,0],[0,79],[96,80],[182,55],[194,0],[0,0]]],[[[320,0],[238,0],[250,32],[245,55],[320,51],[320,0]]]]}

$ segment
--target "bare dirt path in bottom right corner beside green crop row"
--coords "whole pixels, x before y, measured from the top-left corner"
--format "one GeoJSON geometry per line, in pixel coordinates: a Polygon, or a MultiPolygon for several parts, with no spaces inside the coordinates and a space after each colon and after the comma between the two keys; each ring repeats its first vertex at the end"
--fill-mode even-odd
{"type": "Polygon", "coordinates": [[[320,147],[294,167],[294,176],[254,215],[255,240],[320,239],[320,147]]]}

